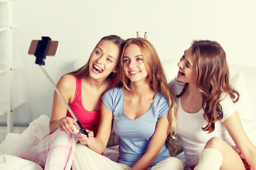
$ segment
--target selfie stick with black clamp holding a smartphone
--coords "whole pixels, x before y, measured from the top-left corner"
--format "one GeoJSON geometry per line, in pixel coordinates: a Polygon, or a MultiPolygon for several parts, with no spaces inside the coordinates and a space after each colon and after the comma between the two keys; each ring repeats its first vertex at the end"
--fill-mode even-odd
{"type": "Polygon", "coordinates": [[[82,134],[85,134],[88,136],[87,131],[85,128],[82,127],[81,123],[79,122],[78,118],[76,118],[75,114],[71,110],[70,106],[68,106],[67,101],[65,101],[65,98],[63,95],[60,93],[58,90],[57,86],[54,84],[53,80],[50,79],[49,74],[46,72],[46,69],[43,68],[43,65],[46,63],[44,60],[46,60],[46,55],[47,56],[54,56],[55,52],[58,47],[58,41],[51,41],[49,37],[42,37],[42,40],[33,40],[31,42],[31,47],[28,50],[29,55],[35,55],[36,57],[36,64],[38,64],[43,72],[46,74],[46,77],[50,80],[50,83],[53,85],[55,91],[57,92],[58,96],[62,99],[62,101],[65,103],[66,108],[68,108],[68,111],[72,115],[73,119],[75,120],[76,123],[78,123],[78,126],[80,128],[80,132],[82,134]]]}

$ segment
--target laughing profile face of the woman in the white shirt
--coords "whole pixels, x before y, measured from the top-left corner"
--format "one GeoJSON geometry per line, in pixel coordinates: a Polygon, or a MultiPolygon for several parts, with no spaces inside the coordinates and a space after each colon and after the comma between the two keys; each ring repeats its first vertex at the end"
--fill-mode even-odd
{"type": "Polygon", "coordinates": [[[196,83],[196,69],[193,66],[193,47],[189,47],[178,62],[178,81],[185,83],[196,83]]]}

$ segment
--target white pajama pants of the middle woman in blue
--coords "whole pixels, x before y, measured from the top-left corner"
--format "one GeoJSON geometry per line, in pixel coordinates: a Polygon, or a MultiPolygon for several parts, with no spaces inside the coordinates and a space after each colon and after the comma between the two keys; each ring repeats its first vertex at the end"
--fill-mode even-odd
{"type": "MultiPolygon", "coordinates": [[[[81,144],[75,146],[75,157],[72,165],[73,170],[129,170],[129,166],[112,161],[111,159],[97,154],[89,147],[81,144]]],[[[169,157],[162,162],[149,168],[151,170],[183,170],[182,162],[176,157],[169,157]]],[[[148,169],[148,170],[149,170],[148,169]]]]}

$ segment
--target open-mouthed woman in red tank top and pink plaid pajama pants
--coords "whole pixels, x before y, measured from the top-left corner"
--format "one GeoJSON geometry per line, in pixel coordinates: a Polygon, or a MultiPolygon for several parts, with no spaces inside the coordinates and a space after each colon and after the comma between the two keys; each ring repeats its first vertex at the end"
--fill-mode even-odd
{"type": "MultiPolygon", "coordinates": [[[[95,134],[100,123],[102,95],[114,86],[124,40],[117,35],[105,36],[97,43],[83,67],[65,74],[57,87],[86,130],[95,134]]],[[[69,169],[78,138],[78,124],[56,92],[50,118],[50,134],[38,145],[38,162],[45,169],[69,169]]]]}

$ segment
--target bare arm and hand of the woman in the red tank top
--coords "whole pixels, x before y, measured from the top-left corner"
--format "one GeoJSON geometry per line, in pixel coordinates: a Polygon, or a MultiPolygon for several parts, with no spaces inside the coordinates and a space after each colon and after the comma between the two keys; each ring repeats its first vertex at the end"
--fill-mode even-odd
{"type": "MultiPolygon", "coordinates": [[[[71,75],[65,75],[60,78],[58,81],[57,88],[59,89],[60,93],[65,98],[67,103],[73,100],[75,95],[75,77],[71,75]]],[[[55,132],[58,128],[64,130],[65,132],[72,132],[73,124],[79,129],[78,124],[73,120],[73,118],[68,118],[67,116],[67,108],[65,104],[58,96],[58,94],[54,91],[53,94],[53,109],[52,115],[50,118],[50,132],[55,132]]]]}

